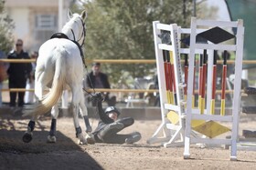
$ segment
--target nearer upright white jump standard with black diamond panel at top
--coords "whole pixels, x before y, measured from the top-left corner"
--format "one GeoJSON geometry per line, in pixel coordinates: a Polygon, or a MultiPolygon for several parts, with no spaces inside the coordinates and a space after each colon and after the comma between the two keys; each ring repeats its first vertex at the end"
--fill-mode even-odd
{"type": "MultiPolygon", "coordinates": [[[[215,30],[215,31],[216,31],[215,30]]],[[[242,55],[243,55],[243,35],[244,27],[242,20],[237,22],[220,22],[220,21],[208,21],[208,20],[197,20],[196,18],[191,19],[191,35],[190,35],[190,53],[189,53],[189,65],[188,65],[188,81],[187,81],[187,112],[186,112],[186,133],[185,133],[185,151],[184,158],[190,157],[190,144],[202,143],[209,145],[231,145],[230,160],[237,160],[237,142],[238,142],[238,129],[240,120],[240,85],[241,85],[241,72],[242,72],[242,55]],[[208,31],[200,34],[205,37],[209,42],[207,44],[200,44],[196,42],[197,29],[199,26],[208,27],[208,31]],[[214,27],[214,28],[212,28],[214,27]],[[235,37],[235,45],[231,44],[221,44],[222,42],[232,38],[227,31],[222,29],[232,29],[236,28],[237,32],[235,37]],[[213,31],[213,29],[218,30],[217,34],[208,34],[213,31]],[[223,36],[218,34],[226,34],[227,39],[223,39],[223,36]],[[210,35],[210,36],[209,36],[210,35]],[[221,39],[222,38],[222,39],[221,39]],[[211,42],[211,43],[210,43],[211,42]],[[213,44],[212,44],[213,43],[213,44]],[[195,55],[197,49],[204,49],[208,51],[220,50],[220,51],[230,51],[235,52],[235,80],[234,80],[234,92],[232,100],[232,115],[225,115],[225,101],[221,101],[221,115],[216,115],[216,111],[211,109],[211,90],[207,91],[207,105],[206,108],[193,109],[192,96],[193,96],[193,82],[194,82],[194,65],[195,65],[195,55]],[[213,121],[218,122],[228,122],[231,124],[231,138],[199,138],[193,137],[191,135],[192,131],[192,121],[193,120],[203,120],[206,121],[210,126],[213,121]]],[[[208,57],[208,69],[212,70],[213,58],[208,57]]],[[[225,71],[225,70],[224,70],[225,71]]],[[[208,72],[208,76],[212,77],[212,72],[208,72]]],[[[212,79],[208,79],[207,87],[212,89],[212,79]]],[[[211,128],[211,127],[209,127],[211,128]]],[[[222,128],[222,127],[219,127],[222,128]]],[[[225,127],[223,127],[225,128],[225,127]]],[[[211,129],[209,129],[211,130],[211,129]]]]}

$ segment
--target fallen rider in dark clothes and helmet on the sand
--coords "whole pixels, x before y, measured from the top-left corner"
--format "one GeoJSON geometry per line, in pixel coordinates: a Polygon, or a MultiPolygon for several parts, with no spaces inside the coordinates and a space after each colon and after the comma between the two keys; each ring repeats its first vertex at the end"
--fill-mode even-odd
{"type": "Polygon", "coordinates": [[[133,144],[138,142],[142,136],[139,132],[131,134],[117,134],[125,127],[133,125],[134,119],[132,117],[123,117],[118,119],[121,114],[114,106],[109,106],[105,111],[102,109],[102,95],[98,93],[92,97],[92,100],[97,103],[97,112],[100,115],[100,121],[95,131],[92,133],[94,139],[89,141],[89,144],[107,143],[107,144],[133,144]]]}

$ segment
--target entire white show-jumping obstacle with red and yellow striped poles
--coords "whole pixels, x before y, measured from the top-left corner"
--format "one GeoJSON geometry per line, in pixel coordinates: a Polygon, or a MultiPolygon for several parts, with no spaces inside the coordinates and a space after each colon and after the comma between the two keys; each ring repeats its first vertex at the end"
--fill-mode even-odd
{"type": "MultiPolygon", "coordinates": [[[[184,158],[189,158],[190,144],[200,143],[208,145],[231,145],[231,160],[236,160],[238,125],[240,112],[240,82],[241,64],[243,49],[244,27],[242,21],[219,22],[208,20],[197,20],[192,18],[191,28],[184,29],[173,25],[163,25],[154,22],[155,37],[155,57],[157,64],[157,74],[159,83],[159,93],[161,102],[162,124],[157,128],[155,134],[147,141],[149,144],[163,143],[165,147],[184,145],[184,158]],[[200,29],[199,26],[204,29],[200,29]],[[201,26],[201,27],[202,27],[201,26]],[[214,28],[211,28],[214,27],[214,28]],[[224,29],[236,28],[237,34],[231,35],[224,29]],[[166,45],[161,40],[161,31],[169,32],[171,45],[166,45]],[[190,35],[189,48],[181,48],[181,34],[190,35]],[[197,40],[196,40],[197,37],[197,40]],[[235,45],[222,44],[229,39],[235,39],[235,45]],[[170,57],[174,60],[174,73],[171,74],[165,63],[171,61],[163,57],[163,50],[170,52],[170,57]],[[216,100],[216,50],[235,52],[235,85],[232,99],[232,114],[226,115],[225,94],[226,94],[226,70],[227,59],[224,56],[222,71],[221,108],[220,115],[215,107],[216,100]],[[188,54],[188,71],[185,65],[185,80],[182,80],[180,54],[188,54]],[[199,65],[197,65],[197,55],[200,55],[199,65]],[[214,59],[215,58],[215,59],[214,59]],[[197,73],[199,70],[199,73],[197,73]],[[187,73],[188,72],[188,77],[187,73]],[[198,83],[195,75],[199,76],[198,83]],[[172,80],[170,80],[170,78],[172,80]],[[175,80],[176,82],[174,83],[175,80]],[[168,82],[168,83],[166,83],[168,82]],[[187,82],[187,85],[184,83],[187,82]],[[169,85],[176,85],[176,102],[172,102],[175,97],[169,85]],[[195,89],[198,86],[198,99],[195,101],[195,89]],[[170,96],[173,95],[173,96],[170,96]],[[187,97],[185,96],[187,95],[187,97]],[[196,107],[197,103],[197,107],[196,107]],[[226,127],[220,123],[230,123],[226,127]],[[163,130],[164,136],[159,136],[163,130]],[[218,138],[219,135],[231,131],[230,139],[218,138]],[[179,140],[177,140],[179,137],[179,140]],[[185,140],[185,141],[184,141],[185,140]]],[[[181,41],[182,42],[182,41],[181,41]]],[[[224,54],[225,54],[224,53],[224,54]]],[[[220,89],[219,89],[220,90],[220,89]]]]}

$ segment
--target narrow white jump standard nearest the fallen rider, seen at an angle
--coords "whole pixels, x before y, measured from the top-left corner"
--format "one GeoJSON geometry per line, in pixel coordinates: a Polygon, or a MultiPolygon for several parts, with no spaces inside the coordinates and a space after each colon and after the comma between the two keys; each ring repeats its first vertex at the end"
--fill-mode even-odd
{"type": "MultiPolygon", "coordinates": [[[[187,71],[182,73],[180,54],[188,54],[189,48],[180,48],[181,35],[190,35],[189,28],[181,28],[176,24],[165,25],[159,21],[153,22],[155,37],[155,58],[157,66],[162,124],[157,128],[155,134],[147,141],[148,144],[163,143],[168,146],[183,146],[185,133],[185,109],[187,100],[187,71]],[[170,34],[161,35],[161,31],[170,34]],[[159,38],[161,36],[162,40],[159,38]],[[167,38],[168,41],[166,41],[167,38]],[[166,45],[168,42],[171,45],[166,45]],[[163,50],[170,55],[170,61],[163,56],[163,50]],[[165,60],[164,60],[165,58],[165,60]],[[173,69],[165,68],[173,65],[173,69]],[[167,73],[166,73],[167,72],[167,73]],[[171,72],[171,73],[169,73],[171,72]],[[169,76],[166,74],[169,74],[169,76]],[[185,80],[182,79],[185,75],[185,80]],[[173,79],[173,80],[172,80],[173,79]],[[169,83],[169,85],[168,85],[169,83]],[[171,85],[170,85],[171,84],[171,85]],[[159,136],[162,133],[164,136],[159,136]]],[[[197,30],[198,33],[204,31],[197,30]]],[[[203,50],[197,50],[197,54],[203,54],[203,50]]],[[[187,64],[185,64],[187,67],[187,64]]],[[[194,121],[194,125],[198,123],[194,121]]],[[[196,134],[193,133],[196,136],[196,134]]]]}

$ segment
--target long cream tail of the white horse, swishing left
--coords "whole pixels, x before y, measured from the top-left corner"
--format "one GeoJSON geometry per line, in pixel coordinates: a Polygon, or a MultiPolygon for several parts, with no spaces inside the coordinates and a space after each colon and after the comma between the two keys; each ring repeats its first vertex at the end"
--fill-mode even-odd
{"type": "MultiPolygon", "coordinates": [[[[58,50],[58,49],[57,49],[58,50]]],[[[55,73],[53,76],[52,85],[47,95],[39,101],[39,104],[29,109],[24,116],[27,115],[44,115],[47,114],[53,105],[59,101],[62,95],[65,75],[66,75],[66,62],[63,55],[67,55],[65,49],[59,48],[59,53],[54,56],[56,58],[55,73]]]]}

